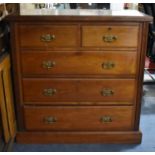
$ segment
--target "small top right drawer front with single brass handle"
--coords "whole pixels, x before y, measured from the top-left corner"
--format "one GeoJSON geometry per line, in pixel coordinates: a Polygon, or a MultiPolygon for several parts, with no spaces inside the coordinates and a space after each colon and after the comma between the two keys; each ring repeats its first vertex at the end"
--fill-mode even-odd
{"type": "Polygon", "coordinates": [[[138,26],[83,26],[84,47],[137,47],[138,26]]]}

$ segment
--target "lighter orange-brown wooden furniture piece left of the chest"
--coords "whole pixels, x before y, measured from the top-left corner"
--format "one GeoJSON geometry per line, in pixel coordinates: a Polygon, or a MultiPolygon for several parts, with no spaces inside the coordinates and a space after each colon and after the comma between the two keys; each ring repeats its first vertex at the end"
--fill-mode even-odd
{"type": "Polygon", "coordinates": [[[16,119],[10,67],[10,56],[7,54],[0,61],[0,107],[6,143],[8,143],[10,139],[14,139],[16,135],[16,119]]]}

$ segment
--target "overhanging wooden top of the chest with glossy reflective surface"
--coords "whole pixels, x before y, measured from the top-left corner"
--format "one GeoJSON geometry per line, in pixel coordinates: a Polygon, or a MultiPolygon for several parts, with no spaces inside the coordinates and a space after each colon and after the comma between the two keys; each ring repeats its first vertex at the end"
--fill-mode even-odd
{"type": "MultiPolygon", "coordinates": [[[[133,10],[121,10],[121,11],[112,11],[108,14],[101,12],[101,10],[55,10],[55,14],[50,15],[38,15],[38,10],[36,10],[36,15],[25,15],[20,16],[18,13],[13,16],[8,16],[6,20],[12,22],[151,22],[153,18],[151,16],[145,15],[139,11],[133,10]],[[95,13],[94,13],[95,12],[95,13]]],[[[105,11],[105,10],[102,10],[105,11]]]]}

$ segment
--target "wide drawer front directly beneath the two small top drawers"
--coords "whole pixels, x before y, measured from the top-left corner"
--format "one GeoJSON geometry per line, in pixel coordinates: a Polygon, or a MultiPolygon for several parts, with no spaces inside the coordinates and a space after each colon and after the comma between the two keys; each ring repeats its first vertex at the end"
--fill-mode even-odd
{"type": "Polygon", "coordinates": [[[136,56],[136,52],[25,51],[22,71],[24,75],[134,75],[136,56]]]}

